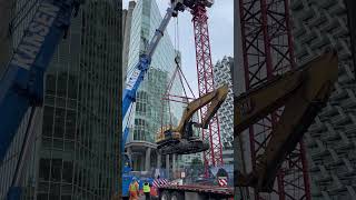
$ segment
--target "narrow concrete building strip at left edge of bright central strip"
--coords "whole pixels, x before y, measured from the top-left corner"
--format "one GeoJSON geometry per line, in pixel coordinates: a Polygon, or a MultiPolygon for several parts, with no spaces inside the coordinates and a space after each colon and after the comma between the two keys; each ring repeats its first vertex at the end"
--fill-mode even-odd
{"type": "Polygon", "coordinates": [[[129,50],[130,50],[130,36],[131,36],[131,21],[132,12],[136,7],[135,1],[129,2],[128,9],[122,10],[122,89],[125,88],[125,80],[127,76],[129,50]]]}

